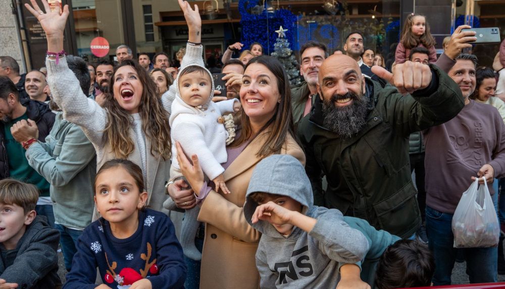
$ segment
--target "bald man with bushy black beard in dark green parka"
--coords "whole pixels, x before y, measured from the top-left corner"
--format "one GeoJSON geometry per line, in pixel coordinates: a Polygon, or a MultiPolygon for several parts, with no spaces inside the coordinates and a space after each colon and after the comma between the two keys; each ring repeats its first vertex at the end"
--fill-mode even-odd
{"type": "Polygon", "coordinates": [[[409,135],[450,120],[464,102],[459,87],[436,66],[407,61],[393,72],[374,66],[397,90],[365,79],[346,55],[328,57],[319,69],[321,97],[299,123],[298,136],[315,204],[409,238],[421,224],[409,135]]]}

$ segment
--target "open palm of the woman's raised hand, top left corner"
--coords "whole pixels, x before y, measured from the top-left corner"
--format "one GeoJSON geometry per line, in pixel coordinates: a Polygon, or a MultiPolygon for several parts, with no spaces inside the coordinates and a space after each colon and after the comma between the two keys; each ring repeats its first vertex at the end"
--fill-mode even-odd
{"type": "Polygon", "coordinates": [[[42,26],[46,36],[51,37],[63,35],[63,30],[65,30],[65,24],[67,23],[69,15],[68,6],[65,5],[63,12],[60,15],[60,7],[58,6],[54,12],[51,12],[46,0],[42,0],[45,12],[40,9],[36,0],[30,0],[30,2],[32,5],[30,6],[29,4],[25,4],[25,7],[40,22],[40,26],[42,26]]]}

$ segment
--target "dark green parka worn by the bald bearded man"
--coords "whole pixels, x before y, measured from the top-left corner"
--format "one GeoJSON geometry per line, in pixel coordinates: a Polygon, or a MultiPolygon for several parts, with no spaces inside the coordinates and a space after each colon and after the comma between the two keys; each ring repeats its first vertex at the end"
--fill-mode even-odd
{"type": "Polygon", "coordinates": [[[298,126],[316,205],[337,208],[402,238],[417,231],[421,217],[410,171],[409,135],[450,120],[464,107],[458,85],[438,67],[430,67],[429,87],[412,96],[367,79],[367,123],[350,138],[323,127],[322,101],[316,99],[298,126]]]}

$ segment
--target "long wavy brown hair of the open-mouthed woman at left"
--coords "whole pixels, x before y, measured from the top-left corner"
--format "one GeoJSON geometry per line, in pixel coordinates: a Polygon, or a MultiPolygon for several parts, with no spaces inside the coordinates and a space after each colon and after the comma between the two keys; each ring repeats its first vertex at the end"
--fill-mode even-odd
{"type": "MultiPolygon", "coordinates": [[[[172,150],[170,126],[168,125],[168,113],[163,108],[161,99],[157,96],[158,86],[142,66],[134,60],[126,59],[114,70],[111,88],[114,86],[116,71],[123,66],[133,67],[143,86],[138,112],[142,119],[142,130],[151,143],[150,154],[168,160],[172,150]]],[[[111,144],[112,152],[116,158],[128,158],[135,149],[135,142],[130,135],[133,117],[118,104],[112,95],[106,99],[104,107],[108,111],[104,142],[111,144]]]]}

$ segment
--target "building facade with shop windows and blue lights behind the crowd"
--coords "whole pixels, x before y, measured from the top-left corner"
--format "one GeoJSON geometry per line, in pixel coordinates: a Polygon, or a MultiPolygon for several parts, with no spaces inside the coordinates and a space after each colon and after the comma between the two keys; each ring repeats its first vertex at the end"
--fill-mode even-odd
{"type": "MultiPolygon", "coordinates": [[[[0,0],[2,42],[0,54],[12,55],[26,69],[44,66],[45,35],[37,20],[23,7],[29,0],[0,0]],[[10,4],[10,5],[9,5],[10,4]],[[14,13],[14,14],[13,14],[14,13]],[[4,40],[5,39],[5,40],[4,40]],[[11,40],[7,40],[11,39],[11,40]]],[[[175,59],[185,47],[187,27],[176,0],[51,0],[69,5],[65,51],[94,63],[115,60],[115,49],[126,44],[136,56],[164,51],[175,59]],[[99,39],[97,37],[102,37],[99,39]],[[92,43],[92,41],[94,41],[92,43]],[[104,42],[105,41],[105,42],[104,42]],[[97,44],[98,43],[98,44],[97,44]],[[100,53],[93,47],[104,48],[100,53]]],[[[258,41],[264,53],[273,52],[279,26],[293,51],[309,40],[325,43],[330,53],[341,49],[345,35],[359,31],[365,47],[394,57],[402,22],[410,13],[426,15],[441,52],[443,37],[458,25],[473,21],[474,27],[499,27],[505,35],[505,2],[502,0],[207,0],[190,1],[203,19],[202,42],[206,58],[219,57],[234,42],[258,41]],[[472,8],[472,9],[469,9],[472,8]]],[[[480,64],[490,66],[498,44],[475,45],[480,64]]],[[[237,55],[234,55],[238,57],[237,55]]]]}

